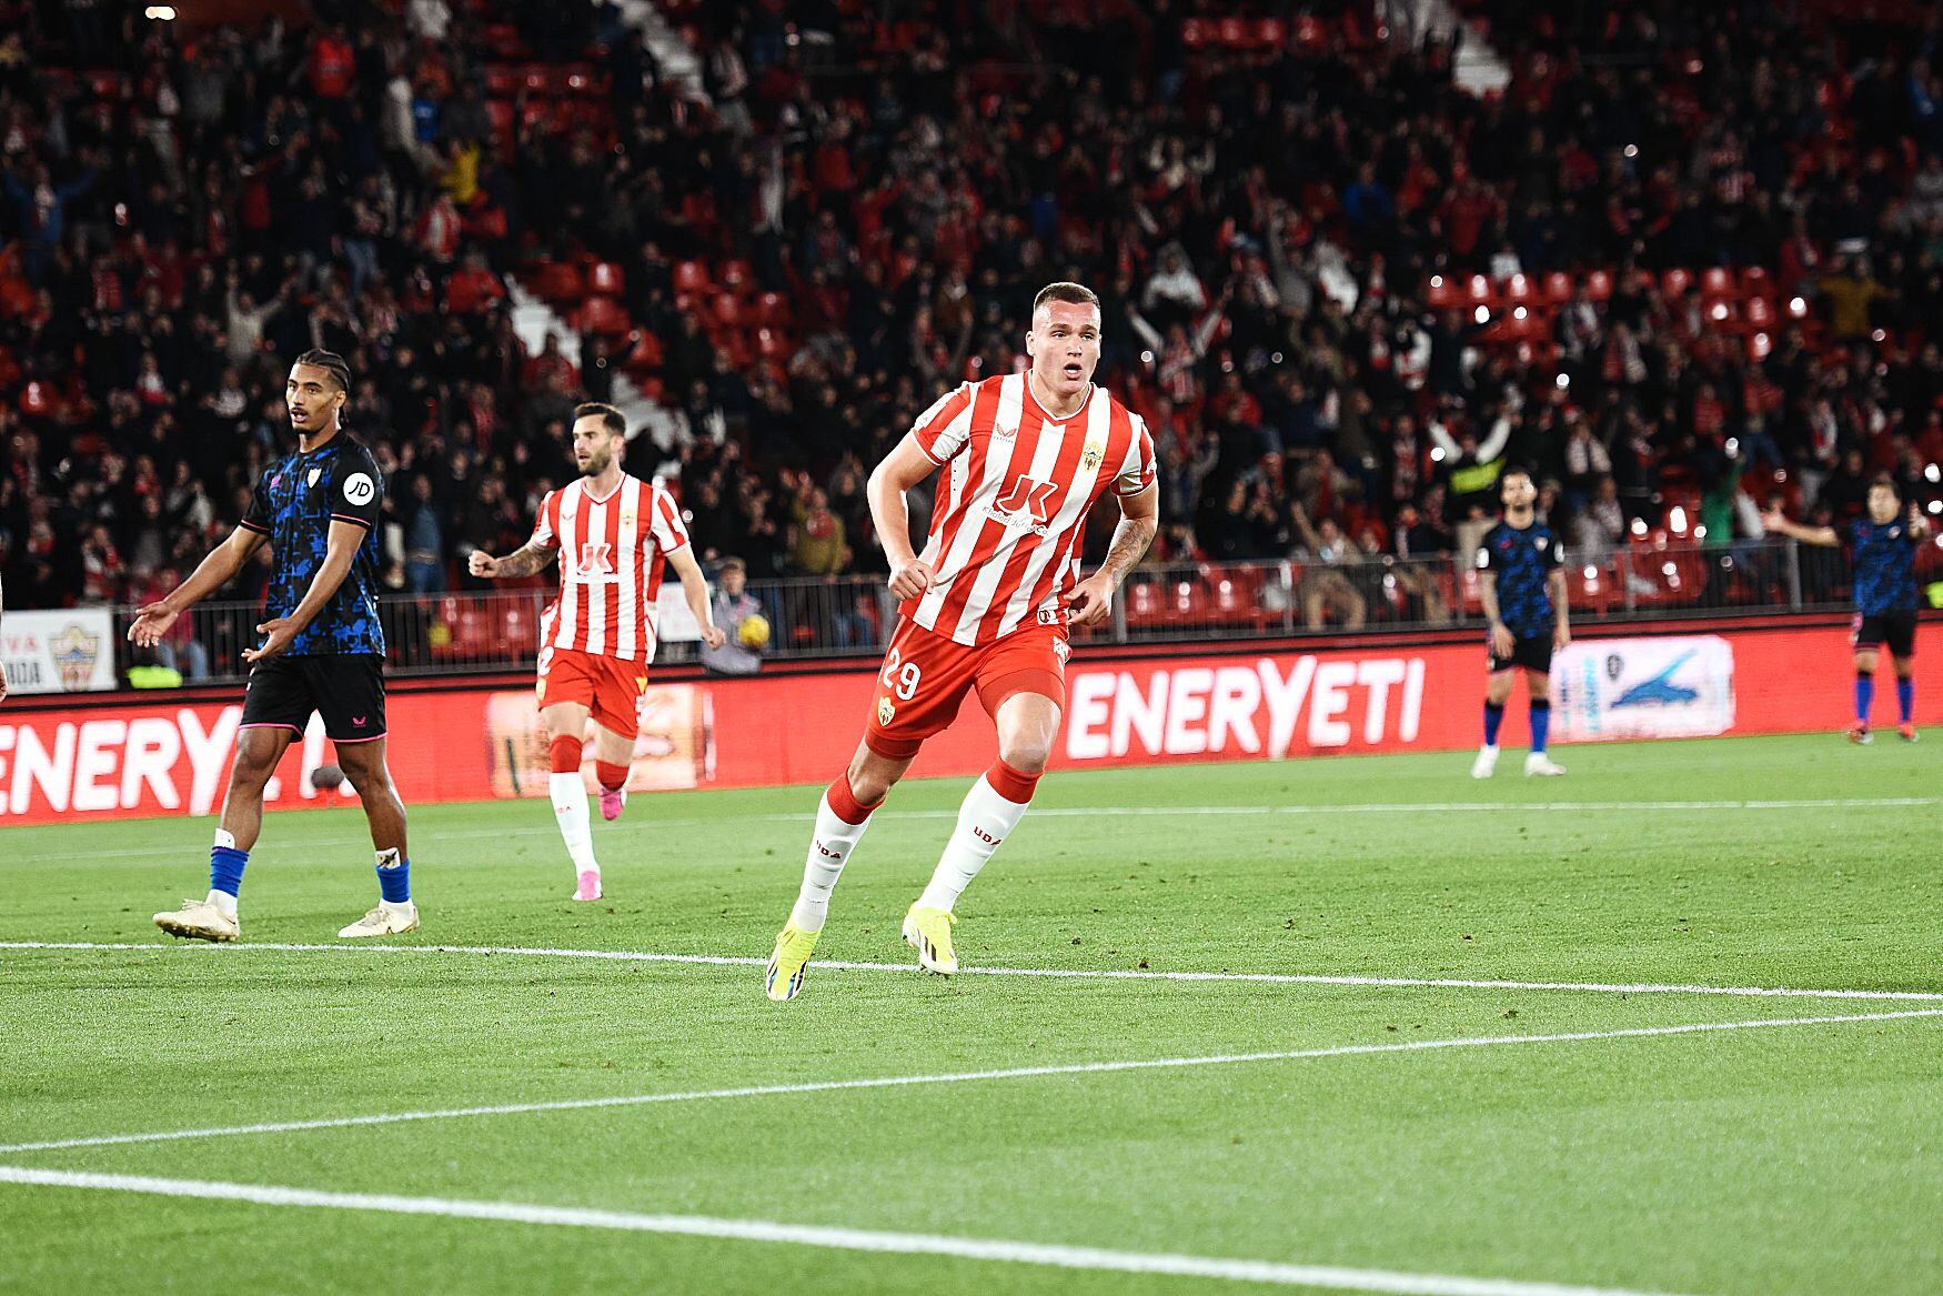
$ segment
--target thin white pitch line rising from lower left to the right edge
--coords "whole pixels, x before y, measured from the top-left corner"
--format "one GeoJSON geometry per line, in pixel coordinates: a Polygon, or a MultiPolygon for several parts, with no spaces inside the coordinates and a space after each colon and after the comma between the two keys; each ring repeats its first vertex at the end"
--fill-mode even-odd
{"type": "Polygon", "coordinates": [[[1850,1022],[1902,1022],[1910,1018],[1943,1016],[1943,1008],[1906,1008],[1900,1012],[1856,1012],[1844,1016],[1782,1016],[1751,1022],[1692,1022],[1687,1026],[1628,1026],[1624,1030],[1576,1030],[1547,1036],[1477,1036],[1451,1040],[1399,1040],[1395,1043],[1339,1043],[1321,1049],[1275,1049],[1267,1053],[1212,1053],[1203,1057],[1142,1057],[1106,1063],[1065,1063],[1053,1067],[1005,1067],[997,1071],[946,1071],[937,1074],[867,1076],[861,1080],[808,1080],[802,1084],[744,1084],[738,1088],[682,1090],[663,1094],[616,1094],[610,1098],[562,1098],[554,1102],[511,1102],[482,1108],[443,1108],[429,1111],[379,1111],[369,1115],[338,1115],[313,1121],[266,1121],[258,1125],[210,1125],[202,1129],[165,1129],[134,1135],[95,1135],[84,1139],[49,1139],[43,1143],[0,1144],[0,1154],[60,1152],[66,1148],[103,1148],[130,1143],[177,1143],[183,1139],[222,1139],[231,1135],[288,1135],[311,1129],[350,1129],[358,1125],[400,1125],[406,1121],[451,1121],[482,1115],[525,1115],[532,1111],[591,1111],[600,1108],[645,1108],[665,1102],[705,1102],[717,1098],[779,1098],[791,1094],[828,1094],[837,1090],[919,1088],[929,1084],[975,1084],[983,1080],[1026,1080],[1043,1076],[1111,1074],[1127,1071],[1181,1071],[1191,1067],[1236,1067],[1244,1063],[1292,1063],[1319,1057],[1370,1057],[1383,1053],[1434,1053],[1442,1049],[1488,1049],[1521,1043],[1589,1043],[1601,1040],[1653,1040],[1663,1036],[1700,1036],[1727,1030],[1768,1030],[1776,1026],[1844,1026],[1850,1022]]]}

